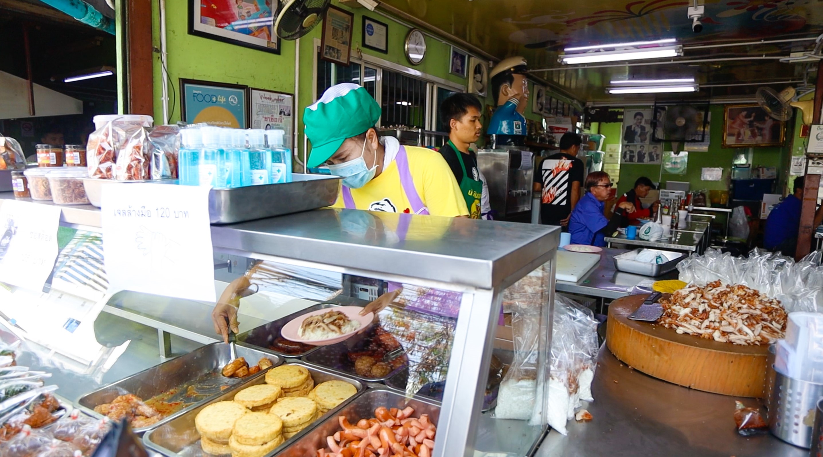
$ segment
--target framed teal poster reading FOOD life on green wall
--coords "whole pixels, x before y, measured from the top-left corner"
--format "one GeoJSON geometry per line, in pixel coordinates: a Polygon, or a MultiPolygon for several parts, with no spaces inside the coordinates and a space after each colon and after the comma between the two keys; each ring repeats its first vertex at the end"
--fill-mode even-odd
{"type": "Polygon", "coordinates": [[[180,120],[246,128],[245,85],[180,78],[180,120]]]}

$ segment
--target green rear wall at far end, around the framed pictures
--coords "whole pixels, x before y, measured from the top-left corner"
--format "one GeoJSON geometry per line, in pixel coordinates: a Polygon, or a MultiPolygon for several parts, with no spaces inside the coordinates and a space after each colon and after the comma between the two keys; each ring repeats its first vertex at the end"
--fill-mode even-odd
{"type": "MultiPolygon", "coordinates": [[[[688,181],[691,182],[692,189],[706,190],[728,190],[730,173],[732,169],[732,159],[738,152],[745,152],[746,148],[723,148],[721,138],[723,137],[723,105],[711,105],[710,135],[711,143],[708,152],[690,152],[689,164],[685,175],[675,175],[665,173],[660,165],[644,164],[621,164],[620,179],[617,187],[618,194],[628,192],[635,179],[647,176],[652,181],[688,181]],[[721,181],[702,181],[700,171],[704,167],[723,167],[723,179],[721,181]]],[[[606,135],[606,144],[620,144],[621,123],[604,123],[600,125],[600,133],[606,135]]],[[[788,175],[789,155],[792,150],[794,136],[793,122],[789,122],[786,136],[789,140],[781,147],[756,147],[752,158],[752,166],[775,167],[778,171],[779,187],[783,189],[788,175]]],[[[671,150],[671,145],[665,145],[663,150],[671,150]]]]}

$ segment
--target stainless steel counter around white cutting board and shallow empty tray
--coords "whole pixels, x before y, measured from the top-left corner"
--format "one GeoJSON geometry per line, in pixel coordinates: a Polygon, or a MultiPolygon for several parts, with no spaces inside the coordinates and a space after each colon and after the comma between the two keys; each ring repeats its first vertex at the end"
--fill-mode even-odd
{"type": "Polygon", "coordinates": [[[651,293],[651,284],[644,284],[650,283],[650,281],[677,279],[677,271],[652,278],[615,270],[615,262],[612,257],[627,251],[627,249],[616,249],[613,247],[604,248],[603,251],[600,252],[600,264],[594,267],[588,275],[585,275],[583,279],[580,279],[577,283],[557,281],[555,290],[558,292],[579,293],[592,297],[614,299],[633,293],[651,293]]]}

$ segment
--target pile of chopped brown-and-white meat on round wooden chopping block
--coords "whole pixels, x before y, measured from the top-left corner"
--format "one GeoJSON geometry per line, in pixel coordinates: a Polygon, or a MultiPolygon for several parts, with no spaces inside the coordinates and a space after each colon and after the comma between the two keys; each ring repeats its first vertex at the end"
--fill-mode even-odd
{"type": "Polygon", "coordinates": [[[740,284],[690,286],[660,303],[663,316],[658,322],[664,327],[721,343],[771,344],[786,330],[780,301],[740,284]]]}

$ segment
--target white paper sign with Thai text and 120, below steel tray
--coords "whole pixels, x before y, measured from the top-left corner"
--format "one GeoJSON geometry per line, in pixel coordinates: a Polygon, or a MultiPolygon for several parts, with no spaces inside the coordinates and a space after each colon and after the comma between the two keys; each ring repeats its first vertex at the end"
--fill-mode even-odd
{"type": "Polygon", "coordinates": [[[103,251],[109,290],[216,301],[209,187],[106,186],[103,251]]]}

